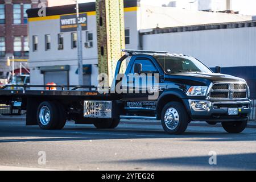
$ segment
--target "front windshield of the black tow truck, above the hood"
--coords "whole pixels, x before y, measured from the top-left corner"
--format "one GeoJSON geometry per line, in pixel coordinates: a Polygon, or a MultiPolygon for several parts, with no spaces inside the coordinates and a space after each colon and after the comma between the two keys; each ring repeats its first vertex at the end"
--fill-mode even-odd
{"type": "Polygon", "coordinates": [[[203,63],[193,57],[154,56],[166,73],[204,72],[212,73],[203,63]]]}

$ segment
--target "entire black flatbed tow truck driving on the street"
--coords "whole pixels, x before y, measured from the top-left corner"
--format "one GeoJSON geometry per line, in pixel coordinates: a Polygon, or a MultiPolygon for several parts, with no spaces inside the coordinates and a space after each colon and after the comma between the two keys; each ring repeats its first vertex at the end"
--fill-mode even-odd
{"type": "Polygon", "coordinates": [[[184,133],[191,121],[221,122],[229,133],[245,129],[251,101],[249,86],[242,78],[213,73],[187,55],[123,52],[126,55],[118,60],[110,88],[6,85],[0,89],[0,103],[26,110],[26,125],[47,130],[62,129],[67,120],[114,129],[122,118],[161,120],[168,134],[184,133]],[[127,67],[121,74],[124,61],[127,67]]]}

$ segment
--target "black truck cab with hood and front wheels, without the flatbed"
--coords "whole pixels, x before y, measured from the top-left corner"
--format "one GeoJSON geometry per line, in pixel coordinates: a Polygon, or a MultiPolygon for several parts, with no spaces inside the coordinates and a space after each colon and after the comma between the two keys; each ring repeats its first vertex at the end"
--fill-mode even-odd
{"type": "Polygon", "coordinates": [[[157,51],[126,53],[115,71],[117,78],[123,61],[128,62],[122,81],[114,80],[114,85],[123,89],[119,94],[123,108],[120,118],[160,119],[169,134],[183,133],[191,121],[220,122],[229,133],[245,129],[251,101],[249,86],[242,78],[213,73],[192,56],[157,51]],[[152,92],[158,92],[158,97],[150,98],[152,92]]]}

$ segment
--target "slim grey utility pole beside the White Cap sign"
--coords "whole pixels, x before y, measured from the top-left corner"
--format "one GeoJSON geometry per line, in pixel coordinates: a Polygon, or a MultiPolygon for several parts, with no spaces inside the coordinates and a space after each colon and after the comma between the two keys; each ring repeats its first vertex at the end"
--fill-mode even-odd
{"type": "Polygon", "coordinates": [[[77,23],[77,60],[78,60],[78,75],[79,75],[79,85],[84,85],[83,83],[83,72],[82,72],[82,27],[79,23],[79,3],[76,0],[76,23],[77,23]]]}

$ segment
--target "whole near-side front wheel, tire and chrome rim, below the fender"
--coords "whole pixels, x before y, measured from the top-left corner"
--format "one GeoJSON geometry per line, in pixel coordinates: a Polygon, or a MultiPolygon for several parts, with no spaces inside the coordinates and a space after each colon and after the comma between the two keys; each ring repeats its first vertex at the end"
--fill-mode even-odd
{"type": "Polygon", "coordinates": [[[180,102],[168,102],[161,113],[164,131],[168,134],[183,134],[188,127],[188,114],[180,102]]]}

